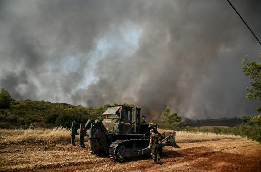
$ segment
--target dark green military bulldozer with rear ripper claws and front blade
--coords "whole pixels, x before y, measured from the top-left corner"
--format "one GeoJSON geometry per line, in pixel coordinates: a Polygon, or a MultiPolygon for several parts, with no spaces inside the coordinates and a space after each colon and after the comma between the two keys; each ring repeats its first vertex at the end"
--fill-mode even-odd
{"type": "Polygon", "coordinates": [[[71,144],[79,135],[80,147],[85,147],[85,138],[89,138],[89,151],[92,154],[108,154],[115,162],[123,162],[124,158],[140,158],[150,156],[150,130],[158,134],[159,154],[165,146],[180,148],[176,141],[176,132],[163,131],[159,124],[140,121],[141,108],[124,105],[108,106],[102,121],[89,119],[86,123],[73,122],[71,127],[71,144]]]}

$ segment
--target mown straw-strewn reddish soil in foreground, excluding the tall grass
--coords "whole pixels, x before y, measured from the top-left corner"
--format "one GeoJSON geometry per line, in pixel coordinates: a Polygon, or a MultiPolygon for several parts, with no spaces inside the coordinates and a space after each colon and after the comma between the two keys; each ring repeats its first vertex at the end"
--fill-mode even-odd
{"type": "MultiPolygon", "coordinates": [[[[88,142],[85,144],[88,146],[88,142]]],[[[163,149],[162,165],[152,164],[152,159],[113,162],[106,156],[91,155],[88,148],[81,149],[79,143],[76,147],[69,143],[1,145],[0,171],[261,172],[261,145],[254,141],[221,139],[178,145],[181,149],[170,146],[163,149]]]]}

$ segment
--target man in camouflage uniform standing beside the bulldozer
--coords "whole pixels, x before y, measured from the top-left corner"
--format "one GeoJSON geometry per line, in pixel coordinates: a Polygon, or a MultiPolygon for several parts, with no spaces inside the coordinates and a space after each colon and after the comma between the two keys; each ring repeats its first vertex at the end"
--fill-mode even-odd
{"type": "Polygon", "coordinates": [[[154,160],[153,164],[157,164],[157,159],[159,164],[161,164],[159,151],[158,151],[158,141],[159,141],[158,135],[154,133],[153,129],[150,130],[150,133],[151,135],[150,135],[149,148],[151,150],[152,159],[154,160]]]}

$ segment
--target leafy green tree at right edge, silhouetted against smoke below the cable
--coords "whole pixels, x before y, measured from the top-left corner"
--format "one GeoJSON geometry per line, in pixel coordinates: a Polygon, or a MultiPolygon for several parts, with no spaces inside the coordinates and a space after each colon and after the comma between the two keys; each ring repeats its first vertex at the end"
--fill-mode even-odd
{"type": "MultiPolygon", "coordinates": [[[[261,53],[259,53],[259,58],[261,59],[261,53]]],[[[246,88],[249,91],[246,98],[257,100],[260,106],[256,110],[261,112],[261,62],[248,60],[245,56],[241,67],[245,75],[252,79],[252,81],[249,81],[250,87],[246,88]]]]}

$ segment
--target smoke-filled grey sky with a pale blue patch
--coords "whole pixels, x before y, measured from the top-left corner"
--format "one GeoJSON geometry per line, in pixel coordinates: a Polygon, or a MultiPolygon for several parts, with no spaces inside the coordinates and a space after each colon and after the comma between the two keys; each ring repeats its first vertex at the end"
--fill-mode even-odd
{"type": "MultiPolygon", "coordinates": [[[[261,40],[261,1],[230,2],[261,40]]],[[[16,100],[256,116],[241,62],[259,52],[226,0],[0,0],[0,87],[16,100]]]]}

